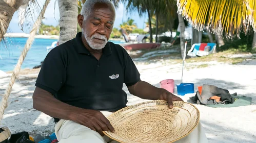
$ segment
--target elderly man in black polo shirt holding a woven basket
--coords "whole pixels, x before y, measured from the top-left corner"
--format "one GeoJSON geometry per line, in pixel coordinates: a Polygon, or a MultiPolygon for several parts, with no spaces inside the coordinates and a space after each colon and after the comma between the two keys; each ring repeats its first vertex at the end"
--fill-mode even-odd
{"type": "MultiPolygon", "coordinates": [[[[111,142],[103,134],[114,132],[106,116],[126,107],[123,83],[134,96],[166,100],[170,108],[172,101],[182,101],[141,81],[123,47],[108,42],[115,20],[109,0],[87,0],[77,20],[82,33],[48,53],[33,94],[33,107],[54,117],[58,141],[111,142]]],[[[207,141],[200,130],[201,125],[193,131],[195,142],[207,141]]],[[[185,139],[191,141],[189,136],[185,139]]]]}

